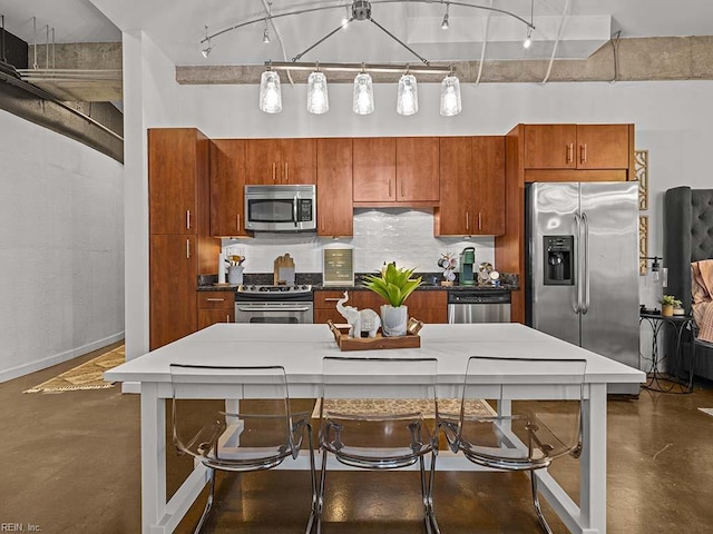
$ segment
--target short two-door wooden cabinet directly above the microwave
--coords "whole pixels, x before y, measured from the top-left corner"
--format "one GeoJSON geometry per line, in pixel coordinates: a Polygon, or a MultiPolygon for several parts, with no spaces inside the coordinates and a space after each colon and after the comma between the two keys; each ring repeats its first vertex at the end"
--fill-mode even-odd
{"type": "Polygon", "coordinates": [[[248,139],[245,180],[262,185],[315,184],[316,140],[248,139]]]}

